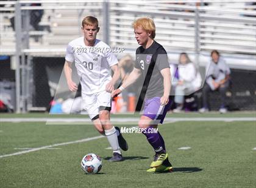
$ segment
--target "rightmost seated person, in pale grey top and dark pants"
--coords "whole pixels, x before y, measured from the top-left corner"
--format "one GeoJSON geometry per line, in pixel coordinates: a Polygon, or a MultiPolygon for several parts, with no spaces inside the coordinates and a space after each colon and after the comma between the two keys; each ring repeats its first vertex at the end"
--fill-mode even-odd
{"type": "Polygon", "coordinates": [[[199,112],[208,112],[208,95],[210,92],[218,91],[221,95],[221,106],[219,112],[226,113],[226,92],[230,85],[230,69],[217,50],[211,53],[212,60],[206,70],[205,85],[203,88],[203,107],[199,112]]]}

